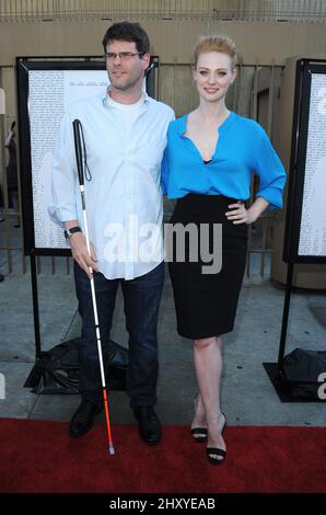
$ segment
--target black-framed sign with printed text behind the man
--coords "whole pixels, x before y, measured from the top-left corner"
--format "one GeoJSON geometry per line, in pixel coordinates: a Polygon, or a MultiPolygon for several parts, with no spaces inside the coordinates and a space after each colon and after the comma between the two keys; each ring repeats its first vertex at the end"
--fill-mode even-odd
{"type": "MultiPolygon", "coordinates": [[[[152,57],[144,87],[155,95],[158,57],[152,57]]],[[[62,229],[48,215],[51,162],[68,105],[105,91],[102,57],[16,58],[20,174],[26,255],[70,255],[62,229]]]]}

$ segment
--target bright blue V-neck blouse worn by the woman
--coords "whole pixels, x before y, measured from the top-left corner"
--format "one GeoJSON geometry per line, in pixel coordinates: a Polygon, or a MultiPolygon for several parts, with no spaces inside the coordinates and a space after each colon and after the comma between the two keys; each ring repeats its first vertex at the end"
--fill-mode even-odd
{"type": "Polygon", "coordinates": [[[259,176],[256,196],[282,207],[284,168],[264,128],[255,121],[232,112],[219,126],[219,140],[212,160],[205,164],[191,139],[184,136],[187,116],[170,123],[162,161],[162,190],[168,198],[188,193],[249,198],[251,176],[259,176]]]}

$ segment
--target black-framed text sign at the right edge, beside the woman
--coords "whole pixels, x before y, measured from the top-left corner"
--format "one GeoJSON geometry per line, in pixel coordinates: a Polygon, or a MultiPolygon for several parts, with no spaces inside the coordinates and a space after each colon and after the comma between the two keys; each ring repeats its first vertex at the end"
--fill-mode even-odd
{"type": "Polygon", "coordinates": [[[296,62],[283,260],[326,263],[326,60],[296,62]]]}

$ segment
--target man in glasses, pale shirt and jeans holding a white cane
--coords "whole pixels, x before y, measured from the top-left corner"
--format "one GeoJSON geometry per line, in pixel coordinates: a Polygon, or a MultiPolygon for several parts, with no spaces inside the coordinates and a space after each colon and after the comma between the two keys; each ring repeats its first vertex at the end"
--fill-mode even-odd
{"type": "Polygon", "coordinates": [[[107,30],[103,46],[109,89],[101,96],[79,100],[70,106],[53,168],[50,213],[68,231],[82,317],[82,401],[69,433],[85,434],[102,409],[91,266],[103,341],[109,337],[115,297],[121,284],[129,333],[127,392],[141,437],[148,444],[156,444],[161,439],[160,421],[153,408],[158,379],[156,323],[164,279],[160,169],[167,126],[174,114],[171,107],[142,91],[150,55],[148,35],[139,24],[115,23],[107,30]],[[81,121],[86,149],[91,255],[85,244],[75,172],[72,136],[75,118],[81,121]],[[149,225],[159,227],[159,233],[140,259],[141,252],[137,250],[143,250],[147,243],[149,225]]]}

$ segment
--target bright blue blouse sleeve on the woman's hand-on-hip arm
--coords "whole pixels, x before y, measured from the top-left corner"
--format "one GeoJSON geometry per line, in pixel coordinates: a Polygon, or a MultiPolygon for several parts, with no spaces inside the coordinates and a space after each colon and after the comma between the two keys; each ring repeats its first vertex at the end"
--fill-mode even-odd
{"type": "MultiPolygon", "coordinates": [[[[261,128],[261,127],[260,127],[261,128]]],[[[257,145],[254,171],[259,176],[259,191],[257,197],[270,203],[269,209],[283,206],[283,187],[287,173],[284,167],[271,146],[271,142],[261,128],[260,141],[257,145]]]]}

